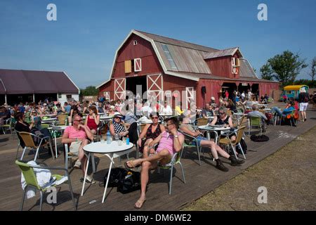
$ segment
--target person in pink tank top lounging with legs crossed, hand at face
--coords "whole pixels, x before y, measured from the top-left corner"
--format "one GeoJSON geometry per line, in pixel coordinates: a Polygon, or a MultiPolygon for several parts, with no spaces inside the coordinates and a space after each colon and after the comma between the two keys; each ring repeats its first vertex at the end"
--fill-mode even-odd
{"type": "Polygon", "coordinates": [[[184,136],[178,132],[178,119],[176,117],[170,117],[167,118],[165,122],[166,131],[162,132],[162,134],[154,139],[154,141],[150,143],[150,146],[144,147],[144,151],[150,150],[150,153],[154,153],[154,144],[159,143],[156,154],[150,155],[147,158],[125,162],[125,167],[129,169],[142,165],[142,170],[140,172],[140,198],[134,205],[136,209],[140,209],[143,207],[143,203],[145,203],[146,186],[150,170],[156,169],[158,162],[160,165],[168,164],[173,154],[178,153],[182,149],[184,136]]]}

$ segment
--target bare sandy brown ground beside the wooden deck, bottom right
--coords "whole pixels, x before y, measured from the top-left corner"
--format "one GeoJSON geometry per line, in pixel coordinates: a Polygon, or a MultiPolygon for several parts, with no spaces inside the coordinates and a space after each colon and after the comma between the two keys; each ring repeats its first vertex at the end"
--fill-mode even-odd
{"type": "Polygon", "coordinates": [[[313,127],[183,210],[316,210],[315,134],[313,127]],[[258,203],[261,186],[267,203],[258,203]]]}

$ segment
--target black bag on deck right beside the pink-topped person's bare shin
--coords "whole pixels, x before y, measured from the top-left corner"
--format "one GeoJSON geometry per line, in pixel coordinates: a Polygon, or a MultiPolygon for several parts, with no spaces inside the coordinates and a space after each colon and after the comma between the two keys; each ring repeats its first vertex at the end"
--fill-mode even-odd
{"type": "Polygon", "coordinates": [[[117,191],[126,194],[140,190],[140,172],[129,170],[117,187],[117,191]]]}

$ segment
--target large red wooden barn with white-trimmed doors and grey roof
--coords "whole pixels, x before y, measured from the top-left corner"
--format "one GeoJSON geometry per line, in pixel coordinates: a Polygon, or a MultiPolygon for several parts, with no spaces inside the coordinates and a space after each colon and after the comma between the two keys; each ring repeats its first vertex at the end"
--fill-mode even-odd
{"type": "Polygon", "coordinates": [[[258,79],[238,47],[218,50],[132,30],[115,53],[110,79],[97,88],[105,98],[125,99],[125,91],[136,94],[137,85],[142,94],[177,96],[180,91],[187,101],[195,93],[199,107],[211,96],[217,101],[225,89],[258,90],[272,98],[279,89],[278,82],[258,79]]]}

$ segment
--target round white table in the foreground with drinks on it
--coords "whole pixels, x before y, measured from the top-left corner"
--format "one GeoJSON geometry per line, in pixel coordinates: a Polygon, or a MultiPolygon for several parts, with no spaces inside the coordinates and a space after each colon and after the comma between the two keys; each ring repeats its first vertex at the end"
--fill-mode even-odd
{"type": "MultiPolygon", "coordinates": [[[[126,143],[124,142],[122,143],[121,146],[119,146],[117,141],[112,141],[110,144],[107,144],[106,141],[104,143],[94,142],[94,143],[90,143],[84,146],[84,151],[88,153],[88,162],[86,164],[86,171],[84,172],[84,184],[86,183],[86,174],[88,172],[88,165],[89,165],[91,154],[93,153],[105,154],[111,160],[110,169],[109,169],[109,172],[107,172],[107,182],[104,188],[102,203],[104,203],[105,201],[105,195],[107,193],[107,184],[109,182],[112,165],[114,164],[113,159],[121,155],[125,155],[129,153],[131,151],[131,148],[133,148],[133,146],[134,146],[133,143],[129,143],[129,145],[126,145],[126,143]]],[[[84,184],[82,185],[81,196],[84,195],[84,184]]]]}

